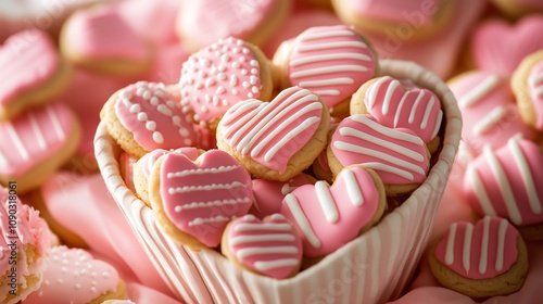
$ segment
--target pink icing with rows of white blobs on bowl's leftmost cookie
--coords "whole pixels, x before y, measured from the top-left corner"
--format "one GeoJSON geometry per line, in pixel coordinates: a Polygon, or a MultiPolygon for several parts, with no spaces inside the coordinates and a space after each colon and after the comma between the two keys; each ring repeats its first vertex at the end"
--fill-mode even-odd
{"type": "Polygon", "coordinates": [[[194,144],[192,122],[176,101],[164,84],[139,81],[118,92],[115,114],[147,151],[194,144]]]}

